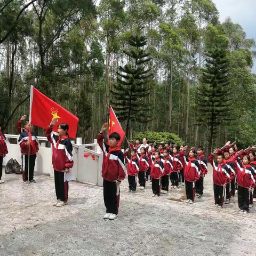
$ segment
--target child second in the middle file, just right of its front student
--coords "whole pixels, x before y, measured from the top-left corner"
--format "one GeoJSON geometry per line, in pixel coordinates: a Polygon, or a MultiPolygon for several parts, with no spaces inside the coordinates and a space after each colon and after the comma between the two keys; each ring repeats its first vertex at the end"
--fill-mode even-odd
{"type": "Polygon", "coordinates": [[[169,191],[169,176],[170,176],[171,170],[173,169],[173,165],[172,165],[172,159],[169,156],[169,151],[164,149],[163,154],[164,155],[162,157],[162,162],[164,164],[164,175],[161,178],[161,185],[162,185],[161,193],[167,194],[167,192],[169,191]]]}

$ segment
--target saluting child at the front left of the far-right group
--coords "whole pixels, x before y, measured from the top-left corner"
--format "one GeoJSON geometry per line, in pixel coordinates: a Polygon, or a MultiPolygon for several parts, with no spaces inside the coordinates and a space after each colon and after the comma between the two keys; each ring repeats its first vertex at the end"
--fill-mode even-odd
{"type": "Polygon", "coordinates": [[[209,157],[209,162],[213,167],[213,192],[215,206],[221,207],[224,203],[225,188],[230,183],[230,170],[224,162],[224,155],[221,153],[217,155],[216,149],[209,157]],[[213,158],[217,155],[217,161],[213,158]]]}

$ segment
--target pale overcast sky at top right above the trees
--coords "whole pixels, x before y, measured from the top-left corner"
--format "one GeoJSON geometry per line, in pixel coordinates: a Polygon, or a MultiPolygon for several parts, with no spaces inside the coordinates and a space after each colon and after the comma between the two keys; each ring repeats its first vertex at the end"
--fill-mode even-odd
{"type": "MultiPolygon", "coordinates": [[[[239,23],[247,38],[256,41],[256,0],[212,0],[220,12],[220,21],[230,17],[234,23],[239,23]]],[[[254,59],[253,72],[256,73],[256,60],[254,59]]]]}

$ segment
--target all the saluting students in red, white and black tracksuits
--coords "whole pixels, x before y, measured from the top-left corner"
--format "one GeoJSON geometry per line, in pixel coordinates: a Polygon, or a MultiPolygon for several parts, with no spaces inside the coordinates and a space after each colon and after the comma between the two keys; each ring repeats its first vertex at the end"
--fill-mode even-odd
{"type": "MultiPolygon", "coordinates": [[[[23,116],[17,123],[23,162],[22,180],[24,183],[35,183],[34,166],[39,142],[29,122],[25,122],[22,128],[25,118],[23,116]]],[[[65,173],[69,173],[73,167],[73,148],[68,135],[68,124],[59,124],[58,133],[52,131],[57,122],[57,118],[52,120],[46,130],[46,137],[53,146],[52,164],[57,196],[53,206],[63,206],[68,200],[68,180],[65,179],[65,173]]],[[[239,211],[249,213],[250,205],[256,201],[256,189],[252,191],[256,178],[256,146],[238,150],[236,142],[227,142],[206,158],[202,147],[188,149],[187,146],[172,146],[168,142],[157,146],[156,142],[148,144],[147,138],[143,138],[142,144],[137,139],[135,145],[130,143],[130,147],[123,153],[118,146],[121,139],[118,133],[109,135],[109,144],[104,142],[107,129],[108,123],[103,124],[97,137],[103,151],[103,199],[106,206],[104,219],[114,220],[118,215],[119,186],[125,179],[126,170],[129,192],[135,193],[137,190],[137,179],[138,189],[141,190],[146,188],[146,182],[149,181],[153,197],[167,194],[169,187],[176,189],[178,186],[185,186],[186,203],[193,204],[195,197],[201,198],[204,193],[207,159],[213,167],[214,203],[217,207],[229,204],[230,199],[235,196],[236,188],[239,211]]],[[[0,128],[0,164],[7,153],[5,136],[0,128]]],[[[3,183],[1,178],[2,168],[0,183],[3,183]]]]}

